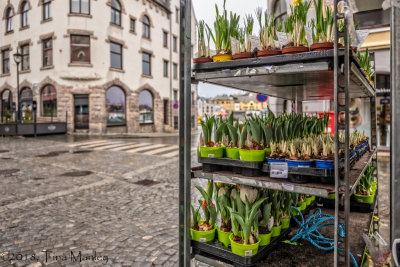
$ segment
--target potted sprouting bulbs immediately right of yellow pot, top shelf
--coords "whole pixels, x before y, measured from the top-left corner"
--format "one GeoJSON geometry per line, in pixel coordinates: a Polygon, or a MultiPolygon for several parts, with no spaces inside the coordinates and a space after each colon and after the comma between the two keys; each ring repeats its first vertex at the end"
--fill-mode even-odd
{"type": "Polygon", "coordinates": [[[233,59],[243,59],[253,57],[250,36],[253,34],[254,19],[252,16],[246,16],[244,29],[238,30],[239,42],[236,47],[236,54],[233,59]]]}

